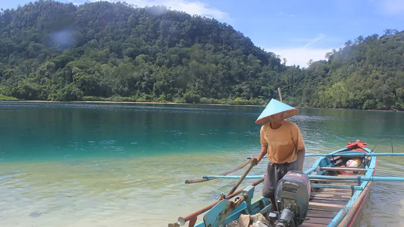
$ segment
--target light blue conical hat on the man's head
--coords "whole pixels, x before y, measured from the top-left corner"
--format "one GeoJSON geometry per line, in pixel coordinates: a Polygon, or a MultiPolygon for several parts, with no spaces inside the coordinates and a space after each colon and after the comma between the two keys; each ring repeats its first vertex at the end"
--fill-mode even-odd
{"type": "Polygon", "coordinates": [[[257,124],[267,123],[269,122],[270,116],[276,115],[276,113],[280,112],[286,112],[285,116],[286,119],[293,117],[294,115],[297,115],[299,110],[278,100],[271,99],[267,107],[265,107],[264,111],[262,111],[260,117],[258,117],[258,119],[256,120],[256,123],[257,124]]]}

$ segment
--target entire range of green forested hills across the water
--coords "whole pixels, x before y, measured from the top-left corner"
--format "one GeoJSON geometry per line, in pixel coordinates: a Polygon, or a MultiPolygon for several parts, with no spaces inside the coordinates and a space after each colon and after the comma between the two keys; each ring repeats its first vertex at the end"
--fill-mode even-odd
{"type": "Polygon", "coordinates": [[[301,69],[230,25],[164,7],[38,1],[0,12],[0,97],[266,104],[281,87],[296,106],[404,109],[395,30],[301,69]]]}

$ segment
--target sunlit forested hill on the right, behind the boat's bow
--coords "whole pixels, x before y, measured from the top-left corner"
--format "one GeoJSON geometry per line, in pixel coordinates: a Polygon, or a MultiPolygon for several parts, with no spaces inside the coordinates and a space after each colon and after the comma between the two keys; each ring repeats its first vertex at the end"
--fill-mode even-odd
{"type": "Polygon", "coordinates": [[[404,110],[404,31],[355,41],[327,53],[328,61],[312,63],[301,71],[293,95],[301,105],[351,109],[404,110]],[[301,89],[301,90],[300,90],[301,89]]]}

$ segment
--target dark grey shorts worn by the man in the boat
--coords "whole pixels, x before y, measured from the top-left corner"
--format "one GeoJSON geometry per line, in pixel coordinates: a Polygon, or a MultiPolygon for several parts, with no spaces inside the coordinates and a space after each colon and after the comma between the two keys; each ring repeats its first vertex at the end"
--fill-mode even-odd
{"type": "Polygon", "coordinates": [[[281,180],[287,172],[297,170],[297,160],[290,163],[276,164],[273,162],[268,163],[267,173],[264,178],[264,187],[262,189],[262,196],[271,198],[274,196],[275,187],[279,180],[281,180]]]}

